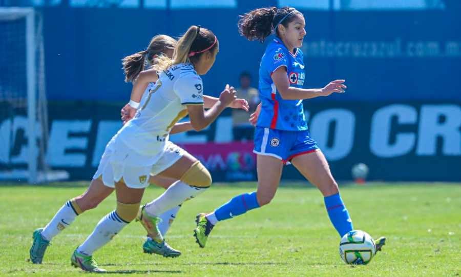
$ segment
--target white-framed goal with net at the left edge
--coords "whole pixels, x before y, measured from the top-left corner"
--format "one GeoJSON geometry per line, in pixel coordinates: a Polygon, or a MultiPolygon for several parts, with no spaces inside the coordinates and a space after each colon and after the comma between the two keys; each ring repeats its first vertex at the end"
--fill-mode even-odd
{"type": "Polygon", "coordinates": [[[0,180],[50,181],[43,20],[0,7],[0,180]]]}

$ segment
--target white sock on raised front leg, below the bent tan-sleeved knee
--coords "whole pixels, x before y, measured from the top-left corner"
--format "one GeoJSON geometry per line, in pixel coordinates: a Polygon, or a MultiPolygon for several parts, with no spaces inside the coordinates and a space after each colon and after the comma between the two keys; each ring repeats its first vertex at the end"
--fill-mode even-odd
{"type": "Polygon", "coordinates": [[[206,188],[191,187],[181,181],[176,181],[165,192],[158,196],[157,199],[146,204],[144,210],[152,216],[159,216],[187,199],[194,198],[205,190],[206,188]]]}

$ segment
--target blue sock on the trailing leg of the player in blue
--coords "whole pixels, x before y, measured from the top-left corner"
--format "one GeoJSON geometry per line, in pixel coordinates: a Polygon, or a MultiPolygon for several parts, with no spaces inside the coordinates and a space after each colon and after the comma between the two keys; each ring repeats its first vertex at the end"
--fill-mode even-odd
{"type": "Polygon", "coordinates": [[[222,221],[256,208],[259,208],[259,204],[256,192],[252,192],[235,196],[231,201],[217,208],[214,213],[216,219],[222,221]]]}

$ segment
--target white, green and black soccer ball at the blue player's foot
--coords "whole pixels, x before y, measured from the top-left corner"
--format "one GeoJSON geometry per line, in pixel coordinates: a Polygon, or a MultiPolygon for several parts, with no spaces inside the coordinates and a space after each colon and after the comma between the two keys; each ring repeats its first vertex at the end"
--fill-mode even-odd
{"type": "Polygon", "coordinates": [[[375,253],[373,238],[364,231],[350,231],[341,239],[340,255],[346,264],[366,265],[375,253]]]}

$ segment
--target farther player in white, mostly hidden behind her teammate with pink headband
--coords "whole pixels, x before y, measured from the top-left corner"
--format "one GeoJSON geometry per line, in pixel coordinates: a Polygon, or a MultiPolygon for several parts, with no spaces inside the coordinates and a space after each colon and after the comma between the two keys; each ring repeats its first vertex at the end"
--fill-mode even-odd
{"type": "MultiPolygon", "coordinates": [[[[141,102],[142,98],[147,98],[149,92],[155,87],[155,82],[158,80],[157,71],[151,69],[156,63],[156,58],[159,55],[167,57],[173,56],[173,50],[176,47],[177,41],[167,35],[154,36],[148,48],[139,51],[132,55],[126,56],[122,60],[122,65],[125,73],[125,82],[133,82],[133,92],[131,101],[141,102]],[[143,69],[147,69],[141,71],[143,69]]],[[[219,99],[207,95],[203,95],[204,107],[212,107],[219,99]]],[[[133,105],[133,104],[132,104],[133,105]]],[[[240,108],[248,110],[248,104],[243,99],[236,99],[229,105],[232,108],[240,108]]],[[[136,108],[127,104],[122,109],[122,120],[127,122],[134,116],[136,108]],[[130,115],[130,113],[133,113],[130,115]]],[[[177,123],[172,128],[170,133],[177,133],[192,130],[190,122],[177,123]]],[[[160,160],[153,166],[149,183],[156,184],[157,186],[168,188],[176,179],[167,177],[171,175],[169,167],[178,161],[183,155],[190,156],[189,153],[181,149],[179,146],[169,142],[168,150],[161,156],[160,160]],[[159,173],[160,172],[160,173],[159,173]]],[[[50,241],[58,235],[62,230],[67,229],[74,222],[75,218],[83,212],[93,209],[98,206],[104,199],[106,199],[114,191],[113,187],[103,184],[101,178],[93,180],[90,187],[83,194],[74,197],[67,201],[53,216],[51,221],[44,227],[38,228],[33,234],[33,244],[30,248],[30,260],[32,263],[40,264],[45,255],[50,241]]],[[[162,222],[158,227],[162,235],[169,230],[171,223],[176,217],[181,204],[160,215],[162,222]]],[[[178,250],[171,248],[166,242],[159,244],[148,237],[142,245],[145,253],[156,253],[165,257],[176,257],[181,254],[178,250]]]]}

